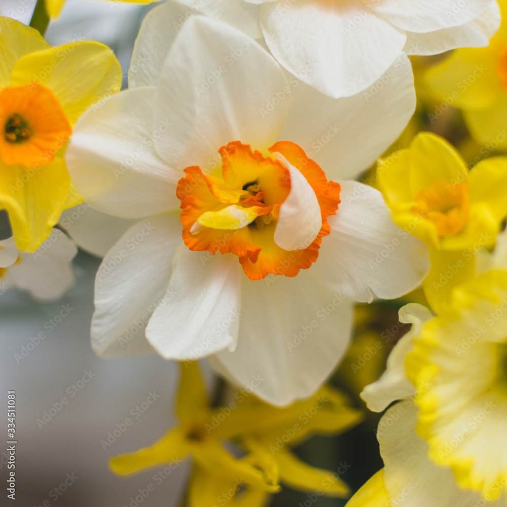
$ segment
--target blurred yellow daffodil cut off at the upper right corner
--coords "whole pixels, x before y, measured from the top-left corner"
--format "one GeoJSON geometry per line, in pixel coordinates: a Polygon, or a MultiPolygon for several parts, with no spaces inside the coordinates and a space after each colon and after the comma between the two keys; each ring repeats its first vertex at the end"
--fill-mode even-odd
{"type": "Polygon", "coordinates": [[[481,155],[507,150],[507,2],[499,2],[502,23],[485,48],[461,48],[430,67],[424,84],[441,101],[463,111],[481,155]]]}

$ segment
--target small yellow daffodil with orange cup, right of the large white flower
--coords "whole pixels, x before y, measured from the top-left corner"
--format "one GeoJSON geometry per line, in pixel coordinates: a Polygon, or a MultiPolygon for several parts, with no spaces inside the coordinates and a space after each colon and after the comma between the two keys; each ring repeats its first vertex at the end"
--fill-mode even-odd
{"type": "Polygon", "coordinates": [[[471,171],[444,139],[418,134],[410,148],[379,162],[377,179],[394,221],[430,247],[425,296],[439,311],[452,287],[475,275],[475,256],[494,245],[507,214],[507,159],[471,171]]]}

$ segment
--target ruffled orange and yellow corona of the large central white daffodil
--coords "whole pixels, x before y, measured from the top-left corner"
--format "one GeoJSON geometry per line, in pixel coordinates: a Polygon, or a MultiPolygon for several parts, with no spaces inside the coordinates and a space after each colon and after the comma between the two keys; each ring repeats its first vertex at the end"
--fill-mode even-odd
{"type": "Polygon", "coordinates": [[[273,273],[296,276],[317,260],[320,243],[330,232],[327,217],[340,202],[340,185],[328,181],[322,169],[295,143],[280,141],[268,150],[298,168],[320,206],[322,225],[310,245],[284,250],[274,241],[280,206],[291,190],[291,177],[275,157],[264,157],[247,144],[230,142],[219,150],[222,171],[206,175],[198,166],[185,169],[177,197],[182,201],[183,240],[191,250],[213,255],[235,253],[250,280],[273,273]]]}

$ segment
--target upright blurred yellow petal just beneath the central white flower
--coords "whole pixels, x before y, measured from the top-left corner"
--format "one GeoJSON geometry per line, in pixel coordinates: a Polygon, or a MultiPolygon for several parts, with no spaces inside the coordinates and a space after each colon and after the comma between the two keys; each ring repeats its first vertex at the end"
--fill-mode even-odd
{"type": "Polygon", "coordinates": [[[197,361],[180,363],[176,413],[182,425],[186,426],[206,418],[209,401],[197,361]]]}

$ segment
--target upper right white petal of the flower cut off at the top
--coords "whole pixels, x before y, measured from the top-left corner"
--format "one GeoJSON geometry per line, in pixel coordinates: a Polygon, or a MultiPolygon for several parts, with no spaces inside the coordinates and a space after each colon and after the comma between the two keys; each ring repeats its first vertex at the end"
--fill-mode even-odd
{"type": "Polygon", "coordinates": [[[431,32],[472,21],[491,0],[382,0],[374,11],[403,30],[431,32]]]}

